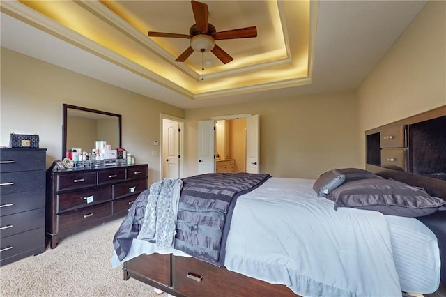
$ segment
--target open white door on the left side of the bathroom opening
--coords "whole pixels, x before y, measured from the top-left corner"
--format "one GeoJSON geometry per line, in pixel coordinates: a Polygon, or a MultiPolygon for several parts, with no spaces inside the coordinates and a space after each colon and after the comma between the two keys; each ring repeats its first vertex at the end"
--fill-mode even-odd
{"type": "Polygon", "coordinates": [[[198,174],[215,172],[215,121],[198,122],[198,174]]]}

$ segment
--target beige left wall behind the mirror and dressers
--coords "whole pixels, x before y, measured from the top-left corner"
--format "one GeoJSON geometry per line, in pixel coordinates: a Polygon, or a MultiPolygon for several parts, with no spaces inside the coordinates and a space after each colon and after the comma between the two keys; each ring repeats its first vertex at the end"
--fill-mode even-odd
{"type": "Polygon", "coordinates": [[[161,154],[151,152],[159,149],[160,113],[183,118],[183,109],[1,48],[1,146],[10,132],[36,133],[47,167],[61,159],[63,103],[121,114],[123,147],[150,165],[151,182],[159,179],[161,154]]]}

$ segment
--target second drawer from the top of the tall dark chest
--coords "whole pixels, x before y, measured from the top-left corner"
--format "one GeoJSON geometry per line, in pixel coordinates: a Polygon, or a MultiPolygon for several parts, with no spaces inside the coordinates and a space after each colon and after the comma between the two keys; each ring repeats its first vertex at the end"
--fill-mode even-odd
{"type": "Polygon", "coordinates": [[[1,195],[27,192],[30,190],[45,190],[45,172],[6,172],[0,174],[1,195]]]}

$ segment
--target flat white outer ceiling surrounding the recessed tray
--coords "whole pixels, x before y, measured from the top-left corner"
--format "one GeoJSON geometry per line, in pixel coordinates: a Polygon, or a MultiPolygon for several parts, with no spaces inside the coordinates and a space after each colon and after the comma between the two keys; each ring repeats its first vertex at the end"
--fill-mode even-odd
{"type": "MultiPolygon", "coordinates": [[[[2,47],[183,109],[355,89],[367,77],[376,63],[390,49],[426,3],[426,1],[320,1],[318,3],[313,68],[310,77],[311,84],[266,91],[245,88],[243,93],[223,92],[216,97],[197,100],[193,99],[193,96],[191,98],[187,91],[173,91],[172,88],[167,87],[167,83],[163,83],[163,78],[157,77],[157,79],[153,79],[149,75],[144,75],[145,69],[141,66],[132,65],[132,68],[141,67],[141,71],[128,70],[130,61],[121,55],[112,54],[112,59],[110,56],[107,59],[103,59],[73,45],[75,43],[72,41],[68,43],[26,22],[22,22],[21,20],[26,21],[26,16],[24,17],[24,15],[18,17],[20,20],[11,17],[10,15],[14,14],[10,13],[10,10],[3,9],[3,2],[1,2],[2,13],[0,20],[2,47]]],[[[144,3],[144,1],[136,2],[144,3]]],[[[212,10],[216,1],[206,2],[210,6],[209,22],[211,22],[212,17],[221,10],[212,10]]],[[[231,1],[224,2],[231,3],[231,1]]],[[[190,5],[189,1],[187,3],[190,5]]],[[[175,8],[176,6],[171,6],[170,9],[175,10],[175,8]]],[[[182,9],[184,10],[185,8],[182,9]]],[[[191,15],[190,11],[188,13],[191,15]]],[[[243,11],[238,13],[243,15],[243,11]]],[[[252,13],[249,15],[252,18],[252,13]]],[[[160,22],[161,20],[157,20],[157,23],[160,22]]],[[[172,20],[167,20],[167,22],[169,22],[169,26],[172,26],[172,20]]],[[[251,20],[250,22],[254,21],[251,20]]],[[[190,26],[193,22],[187,20],[186,23],[190,26]]],[[[214,24],[214,22],[211,23],[214,24]]],[[[217,26],[216,24],[214,25],[217,26]]],[[[238,22],[234,26],[222,28],[222,30],[251,25],[238,22]]],[[[187,33],[189,28],[187,26],[186,32],[183,32],[173,31],[174,29],[171,29],[169,26],[167,26],[169,30],[163,30],[160,29],[163,27],[160,24],[160,28],[155,28],[152,31],[187,33]]],[[[181,28],[183,26],[184,24],[178,25],[181,28]]],[[[217,28],[217,31],[220,31],[220,29],[217,28]]],[[[249,38],[244,41],[252,42],[251,40],[252,38],[249,38]]],[[[178,42],[178,40],[175,40],[175,43],[178,42]]],[[[221,46],[223,47],[223,45],[221,46]]],[[[236,47],[240,47],[240,45],[236,45],[236,47]]],[[[178,49],[179,52],[183,50],[185,48],[178,49]]],[[[225,45],[224,50],[231,52],[231,45],[225,45]]],[[[239,52],[233,53],[235,58],[243,58],[239,52]]],[[[177,53],[174,52],[172,55],[175,54],[177,53]]],[[[193,65],[193,61],[190,61],[190,63],[193,65]]]]}

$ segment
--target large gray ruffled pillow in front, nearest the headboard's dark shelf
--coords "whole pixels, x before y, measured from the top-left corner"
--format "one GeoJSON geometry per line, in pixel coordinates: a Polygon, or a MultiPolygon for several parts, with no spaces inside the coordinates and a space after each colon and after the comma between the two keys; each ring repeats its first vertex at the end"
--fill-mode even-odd
{"type": "Polygon", "coordinates": [[[334,209],[352,207],[401,217],[421,217],[446,210],[445,200],[431,197],[423,188],[385,178],[344,183],[327,198],[334,201],[334,209]]]}

